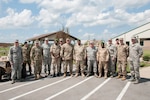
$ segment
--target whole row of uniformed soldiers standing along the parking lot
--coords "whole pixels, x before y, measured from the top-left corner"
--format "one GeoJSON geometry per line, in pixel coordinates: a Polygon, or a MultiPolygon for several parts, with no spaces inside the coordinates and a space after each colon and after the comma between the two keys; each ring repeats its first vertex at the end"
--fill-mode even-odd
{"type": "Polygon", "coordinates": [[[72,45],[70,38],[66,41],[61,38],[55,39],[50,45],[48,38],[45,38],[42,45],[36,40],[34,46],[30,48],[27,42],[20,47],[19,41],[16,40],[9,51],[12,84],[26,77],[26,64],[29,66],[30,75],[32,74],[31,65],[34,67],[35,79],[43,77],[41,76],[42,66],[44,66],[45,77],[61,76],[62,73],[63,77],[66,77],[68,71],[69,76],[73,77],[73,65],[75,65],[75,77],[80,74],[82,77],[94,74],[96,78],[104,76],[106,79],[109,76],[117,76],[117,79],[126,80],[127,61],[131,72],[129,80],[139,83],[140,57],[143,51],[135,37],[132,37],[131,41],[130,46],[124,44],[123,38],[116,39],[116,44],[113,44],[110,39],[108,45],[101,41],[99,46],[95,46],[94,41],[89,41],[88,46],[85,46],[80,40],[72,45]]]}

